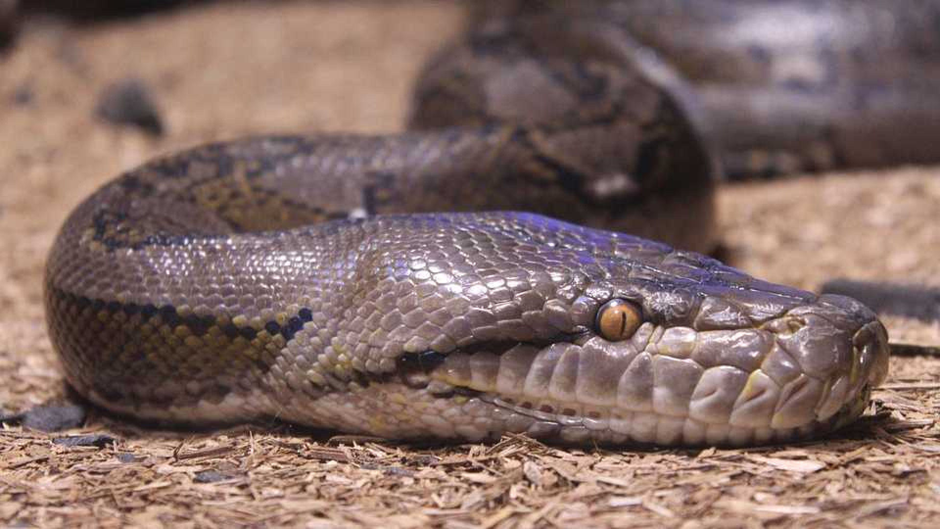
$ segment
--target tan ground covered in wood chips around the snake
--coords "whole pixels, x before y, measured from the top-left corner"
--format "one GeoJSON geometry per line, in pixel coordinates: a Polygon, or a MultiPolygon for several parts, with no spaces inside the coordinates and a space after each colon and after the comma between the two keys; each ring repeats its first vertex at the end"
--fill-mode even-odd
{"type": "MultiPolygon", "coordinates": [[[[71,27],[33,20],[0,56],[0,410],[65,394],[41,275],[69,210],[159,152],[249,133],[394,131],[453,4],[226,4],[71,27]],[[94,116],[108,83],[152,89],[167,134],[94,116]]],[[[940,168],[729,186],[733,264],[814,289],[940,283],[940,168]]],[[[886,318],[898,342],[936,324],[886,318]]],[[[283,426],[155,432],[93,415],[0,429],[0,525],[938,527],[940,359],[898,358],[870,416],[829,441],[747,450],[574,450],[522,437],[408,446],[283,426]],[[63,435],[107,433],[104,448],[63,435]]]]}

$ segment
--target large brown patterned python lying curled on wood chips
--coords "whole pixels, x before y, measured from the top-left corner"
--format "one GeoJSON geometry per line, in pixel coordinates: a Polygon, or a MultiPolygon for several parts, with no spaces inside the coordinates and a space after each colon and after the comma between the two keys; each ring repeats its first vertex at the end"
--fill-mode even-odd
{"type": "Polygon", "coordinates": [[[211,143],[80,203],[44,280],[65,377],[162,424],[574,445],[829,434],[885,380],[885,327],[851,297],[705,255],[714,192],[723,170],[923,161],[937,76],[872,74],[936,53],[935,4],[907,4],[484,8],[420,74],[404,132],[211,143]]]}

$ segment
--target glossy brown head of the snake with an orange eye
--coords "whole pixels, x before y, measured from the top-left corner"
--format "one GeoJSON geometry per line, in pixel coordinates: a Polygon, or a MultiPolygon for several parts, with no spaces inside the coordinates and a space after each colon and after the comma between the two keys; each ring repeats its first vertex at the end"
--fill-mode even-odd
{"type": "Polygon", "coordinates": [[[366,266],[384,286],[357,305],[387,309],[359,333],[383,383],[345,409],[368,413],[368,431],[789,441],[850,422],[885,378],[885,329],[851,298],[542,216],[408,222],[420,244],[386,237],[366,266]]]}

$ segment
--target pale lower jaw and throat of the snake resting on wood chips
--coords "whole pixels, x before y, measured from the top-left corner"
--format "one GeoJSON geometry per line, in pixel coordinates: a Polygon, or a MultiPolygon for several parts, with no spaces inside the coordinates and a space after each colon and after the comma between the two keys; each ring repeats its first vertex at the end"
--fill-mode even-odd
{"type": "Polygon", "coordinates": [[[292,393],[287,396],[297,398],[279,399],[276,405],[272,401],[269,408],[261,410],[262,414],[388,439],[477,442],[498,441],[504,434],[515,433],[553,444],[587,447],[749,446],[806,440],[852,422],[868,402],[863,394],[853,405],[843,406],[823,422],[771,428],[713,425],[690,418],[618,409],[605,409],[603,413],[575,409],[578,415],[573,416],[549,414],[509,404],[498,394],[459,388],[444,394],[392,380],[317,398],[292,393]]]}

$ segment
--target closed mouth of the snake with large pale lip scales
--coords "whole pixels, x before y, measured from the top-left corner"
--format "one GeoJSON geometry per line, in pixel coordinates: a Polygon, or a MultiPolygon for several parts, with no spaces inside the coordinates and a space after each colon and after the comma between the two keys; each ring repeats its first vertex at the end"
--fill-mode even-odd
{"type": "Polygon", "coordinates": [[[490,430],[476,437],[517,431],[603,444],[791,441],[851,423],[885,378],[886,333],[877,320],[831,344],[807,345],[805,331],[816,335],[827,324],[812,319],[714,331],[648,324],[642,346],[597,336],[547,346],[484,344],[426,353],[422,368],[409,373],[413,387],[487,416],[490,430]]]}

